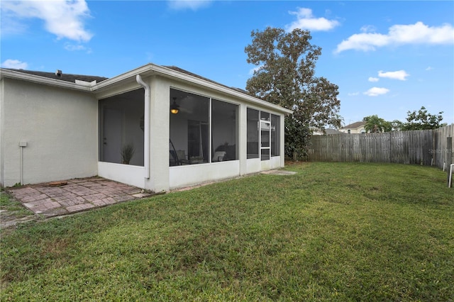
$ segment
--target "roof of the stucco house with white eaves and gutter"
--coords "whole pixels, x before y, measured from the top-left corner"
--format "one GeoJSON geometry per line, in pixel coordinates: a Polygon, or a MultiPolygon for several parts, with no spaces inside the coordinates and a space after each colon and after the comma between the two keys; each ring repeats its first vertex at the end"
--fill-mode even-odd
{"type": "Polygon", "coordinates": [[[141,67],[132,69],[123,74],[119,74],[116,77],[105,78],[105,77],[93,77],[93,76],[83,76],[77,74],[64,74],[59,77],[57,74],[52,72],[33,72],[23,69],[0,69],[0,78],[3,79],[21,79],[28,82],[34,82],[38,84],[47,84],[50,86],[60,86],[67,89],[76,89],[82,91],[92,91],[94,93],[102,94],[103,91],[107,91],[111,86],[118,84],[135,84],[136,77],[149,77],[153,75],[160,75],[161,77],[167,77],[173,80],[187,82],[195,86],[203,87],[204,89],[210,89],[218,91],[222,94],[228,94],[231,96],[236,96],[243,101],[251,102],[253,104],[259,104],[267,108],[274,108],[276,111],[282,113],[293,113],[292,110],[283,108],[281,106],[263,101],[254,96],[247,94],[247,91],[243,89],[228,87],[223,84],[211,81],[205,77],[201,77],[187,70],[181,69],[179,67],[170,66],[165,67],[161,65],[155,65],[148,63],[141,67]],[[77,82],[84,81],[84,82],[77,82]],[[96,80],[96,82],[94,82],[96,80]]]}

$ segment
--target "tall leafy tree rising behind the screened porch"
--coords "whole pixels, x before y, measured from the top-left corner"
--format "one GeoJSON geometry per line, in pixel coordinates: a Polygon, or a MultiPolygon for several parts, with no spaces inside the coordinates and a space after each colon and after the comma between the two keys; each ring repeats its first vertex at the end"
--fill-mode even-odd
{"type": "Polygon", "coordinates": [[[321,47],[311,45],[308,30],[287,33],[268,27],[251,33],[252,43],[245,47],[248,63],[257,66],[248,79],[249,94],[292,109],[285,118],[285,155],[301,157],[311,135],[311,127],[341,126],[338,86],[315,76],[321,47]]]}

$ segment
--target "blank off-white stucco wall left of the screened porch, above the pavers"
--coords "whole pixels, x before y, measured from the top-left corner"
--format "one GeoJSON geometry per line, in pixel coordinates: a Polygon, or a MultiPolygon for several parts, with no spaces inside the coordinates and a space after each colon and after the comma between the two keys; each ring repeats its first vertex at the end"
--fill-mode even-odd
{"type": "Polygon", "coordinates": [[[97,107],[97,99],[87,92],[4,78],[1,184],[21,180],[21,141],[27,142],[23,184],[96,175],[97,107]]]}

